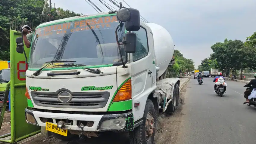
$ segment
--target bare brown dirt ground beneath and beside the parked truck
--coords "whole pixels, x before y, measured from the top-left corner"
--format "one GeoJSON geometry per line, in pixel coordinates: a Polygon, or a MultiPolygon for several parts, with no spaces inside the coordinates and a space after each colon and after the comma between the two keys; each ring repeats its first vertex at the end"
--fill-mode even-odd
{"type": "MultiPolygon", "coordinates": [[[[184,105],[184,93],[186,93],[186,85],[183,90],[180,91],[180,105],[173,114],[160,113],[157,132],[155,135],[155,144],[175,144],[180,135],[180,123],[181,117],[183,115],[182,108],[184,105]]],[[[10,123],[10,112],[5,113],[4,123],[0,134],[10,133],[11,123],[10,123]]],[[[128,133],[103,133],[100,137],[92,138],[82,138],[80,140],[64,142],[58,140],[54,137],[48,139],[44,138],[39,134],[39,136],[32,137],[23,142],[18,142],[22,144],[119,144],[120,142],[124,144],[129,144],[129,134],[128,133]]]]}

